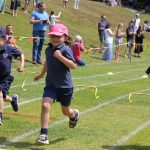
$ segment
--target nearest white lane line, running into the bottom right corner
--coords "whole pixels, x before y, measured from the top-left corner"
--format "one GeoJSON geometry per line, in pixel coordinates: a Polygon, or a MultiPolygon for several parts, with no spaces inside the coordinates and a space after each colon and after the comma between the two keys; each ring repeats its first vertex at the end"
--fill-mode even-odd
{"type": "Polygon", "coordinates": [[[115,144],[111,145],[110,148],[108,148],[108,150],[115,150],[117,148],[117,146],[121,146],[122,144],[124,144],[126,141],[128,141],[130,138],[132,138],[134,135],[136,135],[142,129],[146,128],[149,125],[150,125],[150,120],[144,122],[142,125],[140,125],[136,129],[131,131],[128,135],[123,136],[122,138],[120,138],[115,144]]]}

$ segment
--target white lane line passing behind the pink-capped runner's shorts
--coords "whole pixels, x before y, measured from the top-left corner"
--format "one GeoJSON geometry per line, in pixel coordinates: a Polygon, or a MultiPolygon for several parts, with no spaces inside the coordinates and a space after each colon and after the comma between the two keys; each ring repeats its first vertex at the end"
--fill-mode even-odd
{"type": "MultiPolygon", "coordinates": [[[[141,77],[140,78],[135,78],[135,79],[130,79],[130,80],[120,80],[120,81],[114,81],[114,82],[108,82],[108,83],[103,83],[103,84],[100,84],[96,87],[103,87],[103,86],[108,86],[108,85],[111,85],[111,84],[117,84],[117,83],[126,83],[126,82],[131,82],[131,81],[136,81],[136,80],[140,80],[142,79],[141,77]]],[[[87,89],[88,87],[85,87],[85,88],[78,88],[78,89],[75,89],[74,92],[77,92],[77,91],[81,91],[81,90],[85,90],[87,89]]],[[[35,101],[38,101],[42,99],[42,97],[38,97],[38,98],[34,98],[34,99],[31,99],[31,100],[28,100],[28,101],[23,101],[21,103],[19,103],[19,105],[23,105],[23,104],[29,104],[29,103],[32,103],[32,102],[35,102],[35,101]]],[[[4,107],[4,109],[6,108],[11,108],[10,105],[7,105],[4,107]]]]}

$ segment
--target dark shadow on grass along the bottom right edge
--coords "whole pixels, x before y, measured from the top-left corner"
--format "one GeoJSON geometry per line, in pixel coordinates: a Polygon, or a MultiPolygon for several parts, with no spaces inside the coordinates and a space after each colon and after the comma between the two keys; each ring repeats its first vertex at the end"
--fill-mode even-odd
{"type": "MultiPolygon", "coordinates": [[[[109,149],[111,146],[104,145],[103,148],[109,149]]],[[[118,145],[112,148],[114,150],[150,150],[150,146],[142,146],[142,145],[118,145]]]]}

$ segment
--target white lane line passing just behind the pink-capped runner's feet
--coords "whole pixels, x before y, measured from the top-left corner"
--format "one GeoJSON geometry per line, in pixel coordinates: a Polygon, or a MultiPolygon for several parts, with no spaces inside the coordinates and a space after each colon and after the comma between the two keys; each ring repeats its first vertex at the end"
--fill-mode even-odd
{"type": "MultiPolygon", "coordinates": [[[[149,91],[149,90],[150,90],[150,88],[141,90],[141,91],[139,91],[139,92],[144,92],[144,91],[149,91]]],[[[104,103],[100,103],[100,104],[98,104],[97,106],[91,107],[91,108],[89,108],[89,109],[86,109],[86,110],[80,112],[80,115],[87,114],[87,113],[89,113],[89,112],[95,111],[95,110],[100,109],[100,108],[103,108],[103,107],[105,107],[105,106],[108,106],[109,104],[115,103],[115,102],[117,102],[117,101],[119,101],[119,100],[123,100],[123,99],[124,99],[125,97],[127,97],[127,96],[128,96],[128,94],[125,94],[125,95],[122,95],[122,96],[118,96],[118,97],[116,97],[116,98],[114,98],[114,99],[107,100],[107,101],[104,102],[104,103]]],[[[63,119],[63,120],[56,121],[56,122],[54,122],[53,124],[49,125],[48,128],[52,128],[53,126],[56,126],[56,125],[61,125],[61,124],[63,124],[63,123],[66,122],[66,121],[68,121],[68,118],[63,119]]],[[[147,125],[147,124],[146,124],[146,125],[147,125]]],[[[145,126],[146,126],[146,125],[145,125],[145,126]]],[[[143,127],[143,126],[142,126],[142,127],[143,127]]],[[[19,142],[20,140],[23,140],[23,139],[25,139],[26,137],[31,136],[31,135],[33,135],[33,134],[39,132],[39,131],[40,131],[40,129],[34,129],[34,130],[29,131],[29,132],[25,132],[25,133],[22,134],[22,135],[16,136],[14,139],[12,139],[12,140],[9,141],[9,142],[4,142],[4,143],[2,143],[2,144],[0,145],[0,147],[6,147],[6,146],[8,146],[8,145],[10,145],[10,144],[19,142]]],[[[136,134],[136,133],[135,133],[135,134],[136,134]]],[[[129,137],[129,138],[130,138],[130,137],[129,137]]]]}

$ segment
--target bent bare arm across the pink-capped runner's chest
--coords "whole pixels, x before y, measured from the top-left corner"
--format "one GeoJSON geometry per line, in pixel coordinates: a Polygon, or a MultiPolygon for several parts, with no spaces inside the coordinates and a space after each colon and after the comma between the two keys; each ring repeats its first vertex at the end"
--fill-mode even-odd
{"type": "Polygon", "coordinates": [[[59,50],[54,52],[54,57],[56,57],[59,61],[61,61],[66,67],[69,69],[75,69],[76,64],[72,61],[64,57],[59,50]]]}

